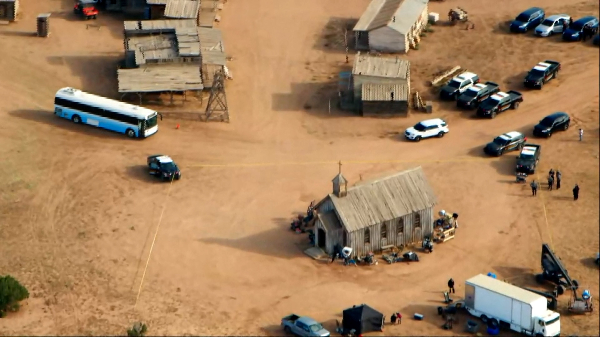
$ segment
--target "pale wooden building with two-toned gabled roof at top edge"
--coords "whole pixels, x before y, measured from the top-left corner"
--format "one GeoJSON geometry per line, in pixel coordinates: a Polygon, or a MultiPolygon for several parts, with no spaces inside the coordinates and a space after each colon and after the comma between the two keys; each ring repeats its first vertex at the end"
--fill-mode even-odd
{"type": "Polygon", "coordinates": [[[427,26],[429,0],[372,0],[353,29],[359,50],[407,53],[427,26]]]}

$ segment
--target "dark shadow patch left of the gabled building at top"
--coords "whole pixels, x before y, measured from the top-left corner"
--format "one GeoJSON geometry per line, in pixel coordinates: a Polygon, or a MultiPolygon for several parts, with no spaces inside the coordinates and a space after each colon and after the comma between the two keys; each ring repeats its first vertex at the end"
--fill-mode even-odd
{"type": "Polygon", "coordinates": [[[354,48],[352,29],[356,22],[358,22],[358,19],[330,17],[320,34],[315,38],[313,48],[323,52],[345,53],[347,43],[348,53],[352,53],[354,48]]]}

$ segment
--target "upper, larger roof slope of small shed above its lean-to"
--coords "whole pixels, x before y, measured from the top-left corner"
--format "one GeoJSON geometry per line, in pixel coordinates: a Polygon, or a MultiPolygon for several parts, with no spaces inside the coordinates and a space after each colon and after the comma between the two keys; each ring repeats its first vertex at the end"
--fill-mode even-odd
{"type": "Polygon", "coordinates": [[[354,59],[352,74],[364,76],[406,79],[410,62],[400,58],[382,58],[358,53],[354,59]]]}

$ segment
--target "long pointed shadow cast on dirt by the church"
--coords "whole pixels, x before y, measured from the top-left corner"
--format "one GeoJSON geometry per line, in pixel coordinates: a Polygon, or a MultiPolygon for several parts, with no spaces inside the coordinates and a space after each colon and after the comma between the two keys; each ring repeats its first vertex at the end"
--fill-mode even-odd
{"type": "Polygon", "coordinates": [[[278,258],[307,257],[304,255],[304,250],[310,246],[308,236],[290,230],[292,217],[272,220],[275,224],[274,228],[247,237],[239,239],[209,237],[198,241],[278,258]]]}

